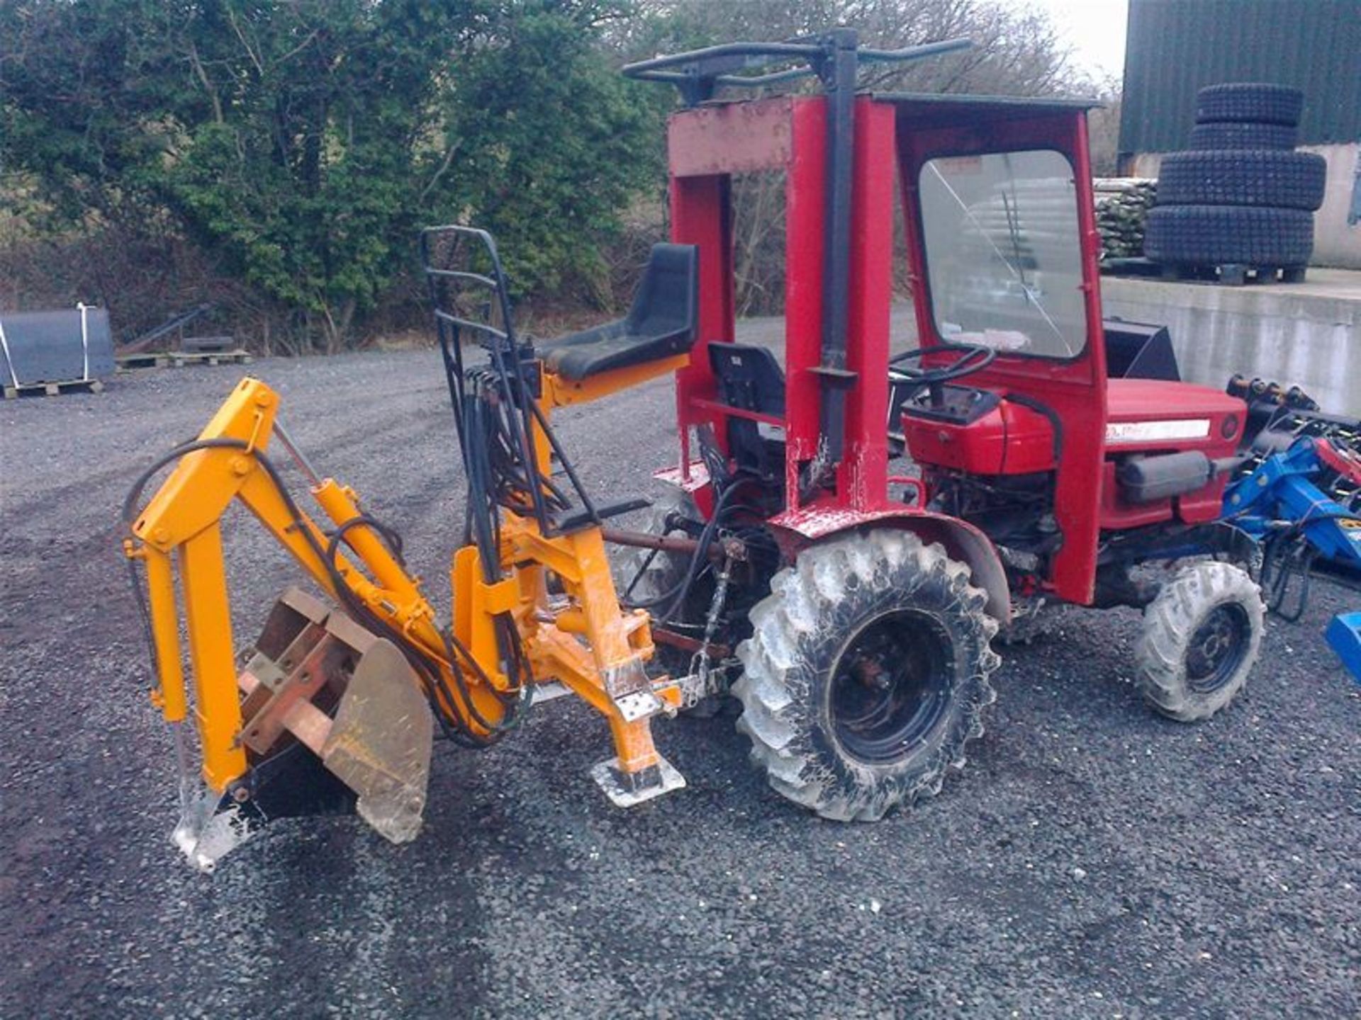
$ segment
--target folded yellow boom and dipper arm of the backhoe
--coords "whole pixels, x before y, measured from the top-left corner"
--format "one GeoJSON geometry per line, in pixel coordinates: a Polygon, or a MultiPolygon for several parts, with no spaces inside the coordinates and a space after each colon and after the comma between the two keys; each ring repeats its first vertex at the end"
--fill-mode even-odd
{"type": "MultiPolygon", "coordinates": [[[[189,452],[178,456],[176,469],[131,521],[132,537],[125,540],[128,556],[144,560],[147,567],[159,672],[152,700],[169,722],[182,722],[188,714],[174,592],[174,566],[180,568],[203,779],[216,793],[246,771],[220,530],[222,514],[233,499],[249,507],[336,601],[347,601],[346,596],[359,600],[429,658],[445,660],[434,609],[416,579],[369,526],[352,524],[363,520],[352,492],[331,479],[312,488],[327,515],[344,528],[344,540],[365,570],[339,549],[329,549],[332,540],[287,495],[264,456],[278,407],[278,394],[265,384],[242,379],[199,439],[181,447],[189,452]],[[338,579],[347,592],[338,590],[338,579]]],[[[487,702],[483,711],[494,713],[497,703],[490,698],[487,702]]]]}

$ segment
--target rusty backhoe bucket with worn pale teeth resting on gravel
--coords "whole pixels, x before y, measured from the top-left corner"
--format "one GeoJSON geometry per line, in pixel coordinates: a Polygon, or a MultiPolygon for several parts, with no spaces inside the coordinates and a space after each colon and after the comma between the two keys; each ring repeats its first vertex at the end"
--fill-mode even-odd
{"type": "Polygon", "coordinates": [[[416,836],[434,724],[396,645],[290,589],[237,685],[246,772],[216,794],[181,747],[176,842],[196,866],[211,870],[278,817],[358,812],[393,843],[416,836]]]}

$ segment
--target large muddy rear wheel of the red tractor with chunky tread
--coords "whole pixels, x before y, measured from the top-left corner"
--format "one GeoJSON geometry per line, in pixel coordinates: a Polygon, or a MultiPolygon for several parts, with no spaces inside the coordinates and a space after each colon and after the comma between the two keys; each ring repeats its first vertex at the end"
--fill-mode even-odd
{"type": "Polygon", "coordinates": [[[738,730],[770,786],[837,821],[939,792],[995,700],[985,602],[966,566],[909,532],[804,549],[738,647],[738,730]]]}

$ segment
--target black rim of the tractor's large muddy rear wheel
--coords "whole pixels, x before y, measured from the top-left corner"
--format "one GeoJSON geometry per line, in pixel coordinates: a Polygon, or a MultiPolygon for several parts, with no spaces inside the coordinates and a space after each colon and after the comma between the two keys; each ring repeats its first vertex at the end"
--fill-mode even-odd
{"type": "Polygon", "coordinates": [[[832,672],[832,728],[870,764],[902,758],[950,706],[954,649],[945,628],[913,611],[876,616],[847,641],[832,672]]]}

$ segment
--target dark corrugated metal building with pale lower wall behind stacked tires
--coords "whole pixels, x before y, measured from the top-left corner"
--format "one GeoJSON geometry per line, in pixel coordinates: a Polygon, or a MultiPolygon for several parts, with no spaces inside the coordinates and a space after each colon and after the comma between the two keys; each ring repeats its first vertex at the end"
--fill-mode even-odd
{"type": "Polygon", "coordinates": [[[1361,267],[1347,222],[1361,141],[1361,0],[1130,0],[1120,163],[1155,175],[1184,148],[1195,95],[1218,82],[1277,82],[1304,92],[1300,146],[1328,160],[1316,260],[1361,267]]]}

